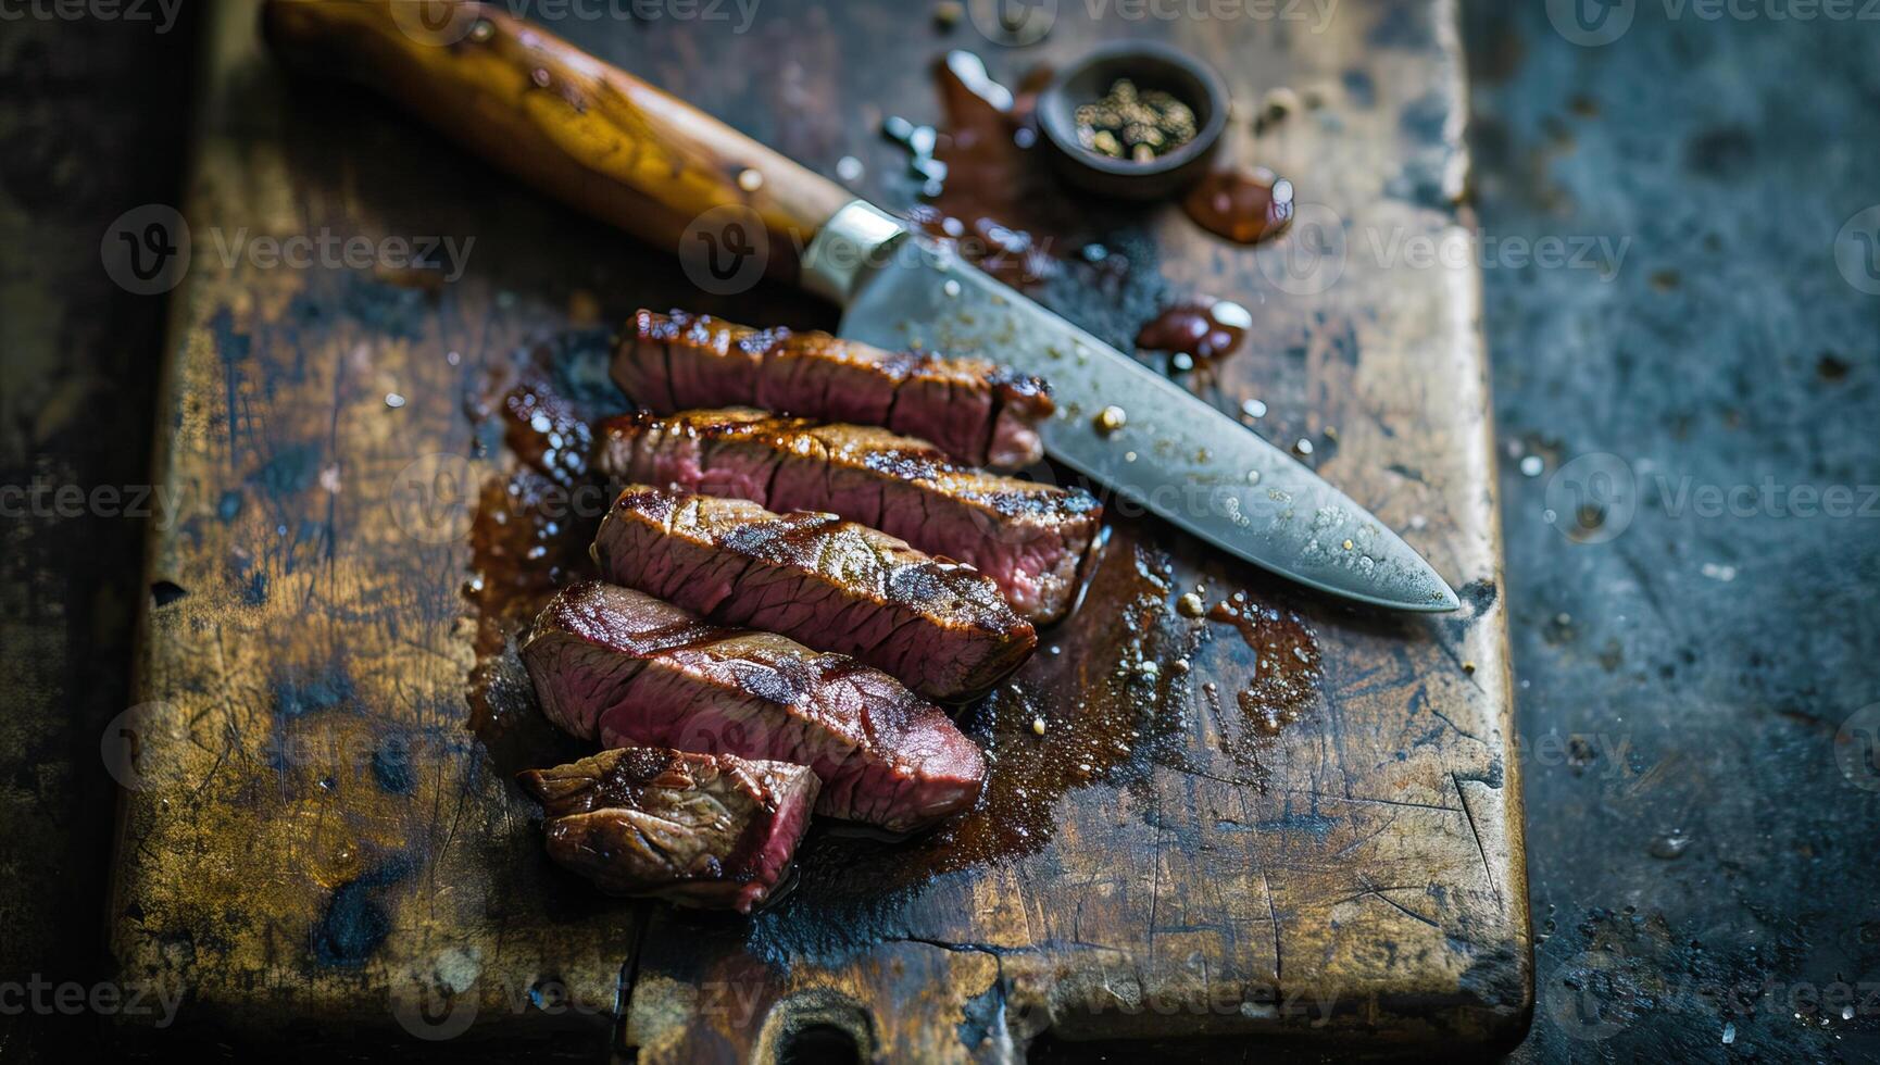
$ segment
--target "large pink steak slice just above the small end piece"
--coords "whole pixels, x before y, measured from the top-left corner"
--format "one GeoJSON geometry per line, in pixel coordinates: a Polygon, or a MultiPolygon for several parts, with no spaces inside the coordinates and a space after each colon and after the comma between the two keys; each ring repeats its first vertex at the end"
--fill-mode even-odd
{"type": "Polygon", "coordinates": [[[906,832],[972,805],[985,777],[972,739],[895,677],[617,585],[562,589],[523,662],[568,732],[808,766],[829,817],[906,832]]]}

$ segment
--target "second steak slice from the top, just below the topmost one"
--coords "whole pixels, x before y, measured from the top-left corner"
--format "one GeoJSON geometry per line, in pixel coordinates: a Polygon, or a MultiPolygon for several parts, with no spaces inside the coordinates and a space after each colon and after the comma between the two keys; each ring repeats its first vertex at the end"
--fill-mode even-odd
{"type": "Polygon", "coordinates": [[[726,408],[628,414],[596,437],[596,467],[615,484],[827,510],[978,566],[1032,623],[1070,610],[1104,516],[1083,489],[955,467],[923,440],[865,425],[726,408]]]}

